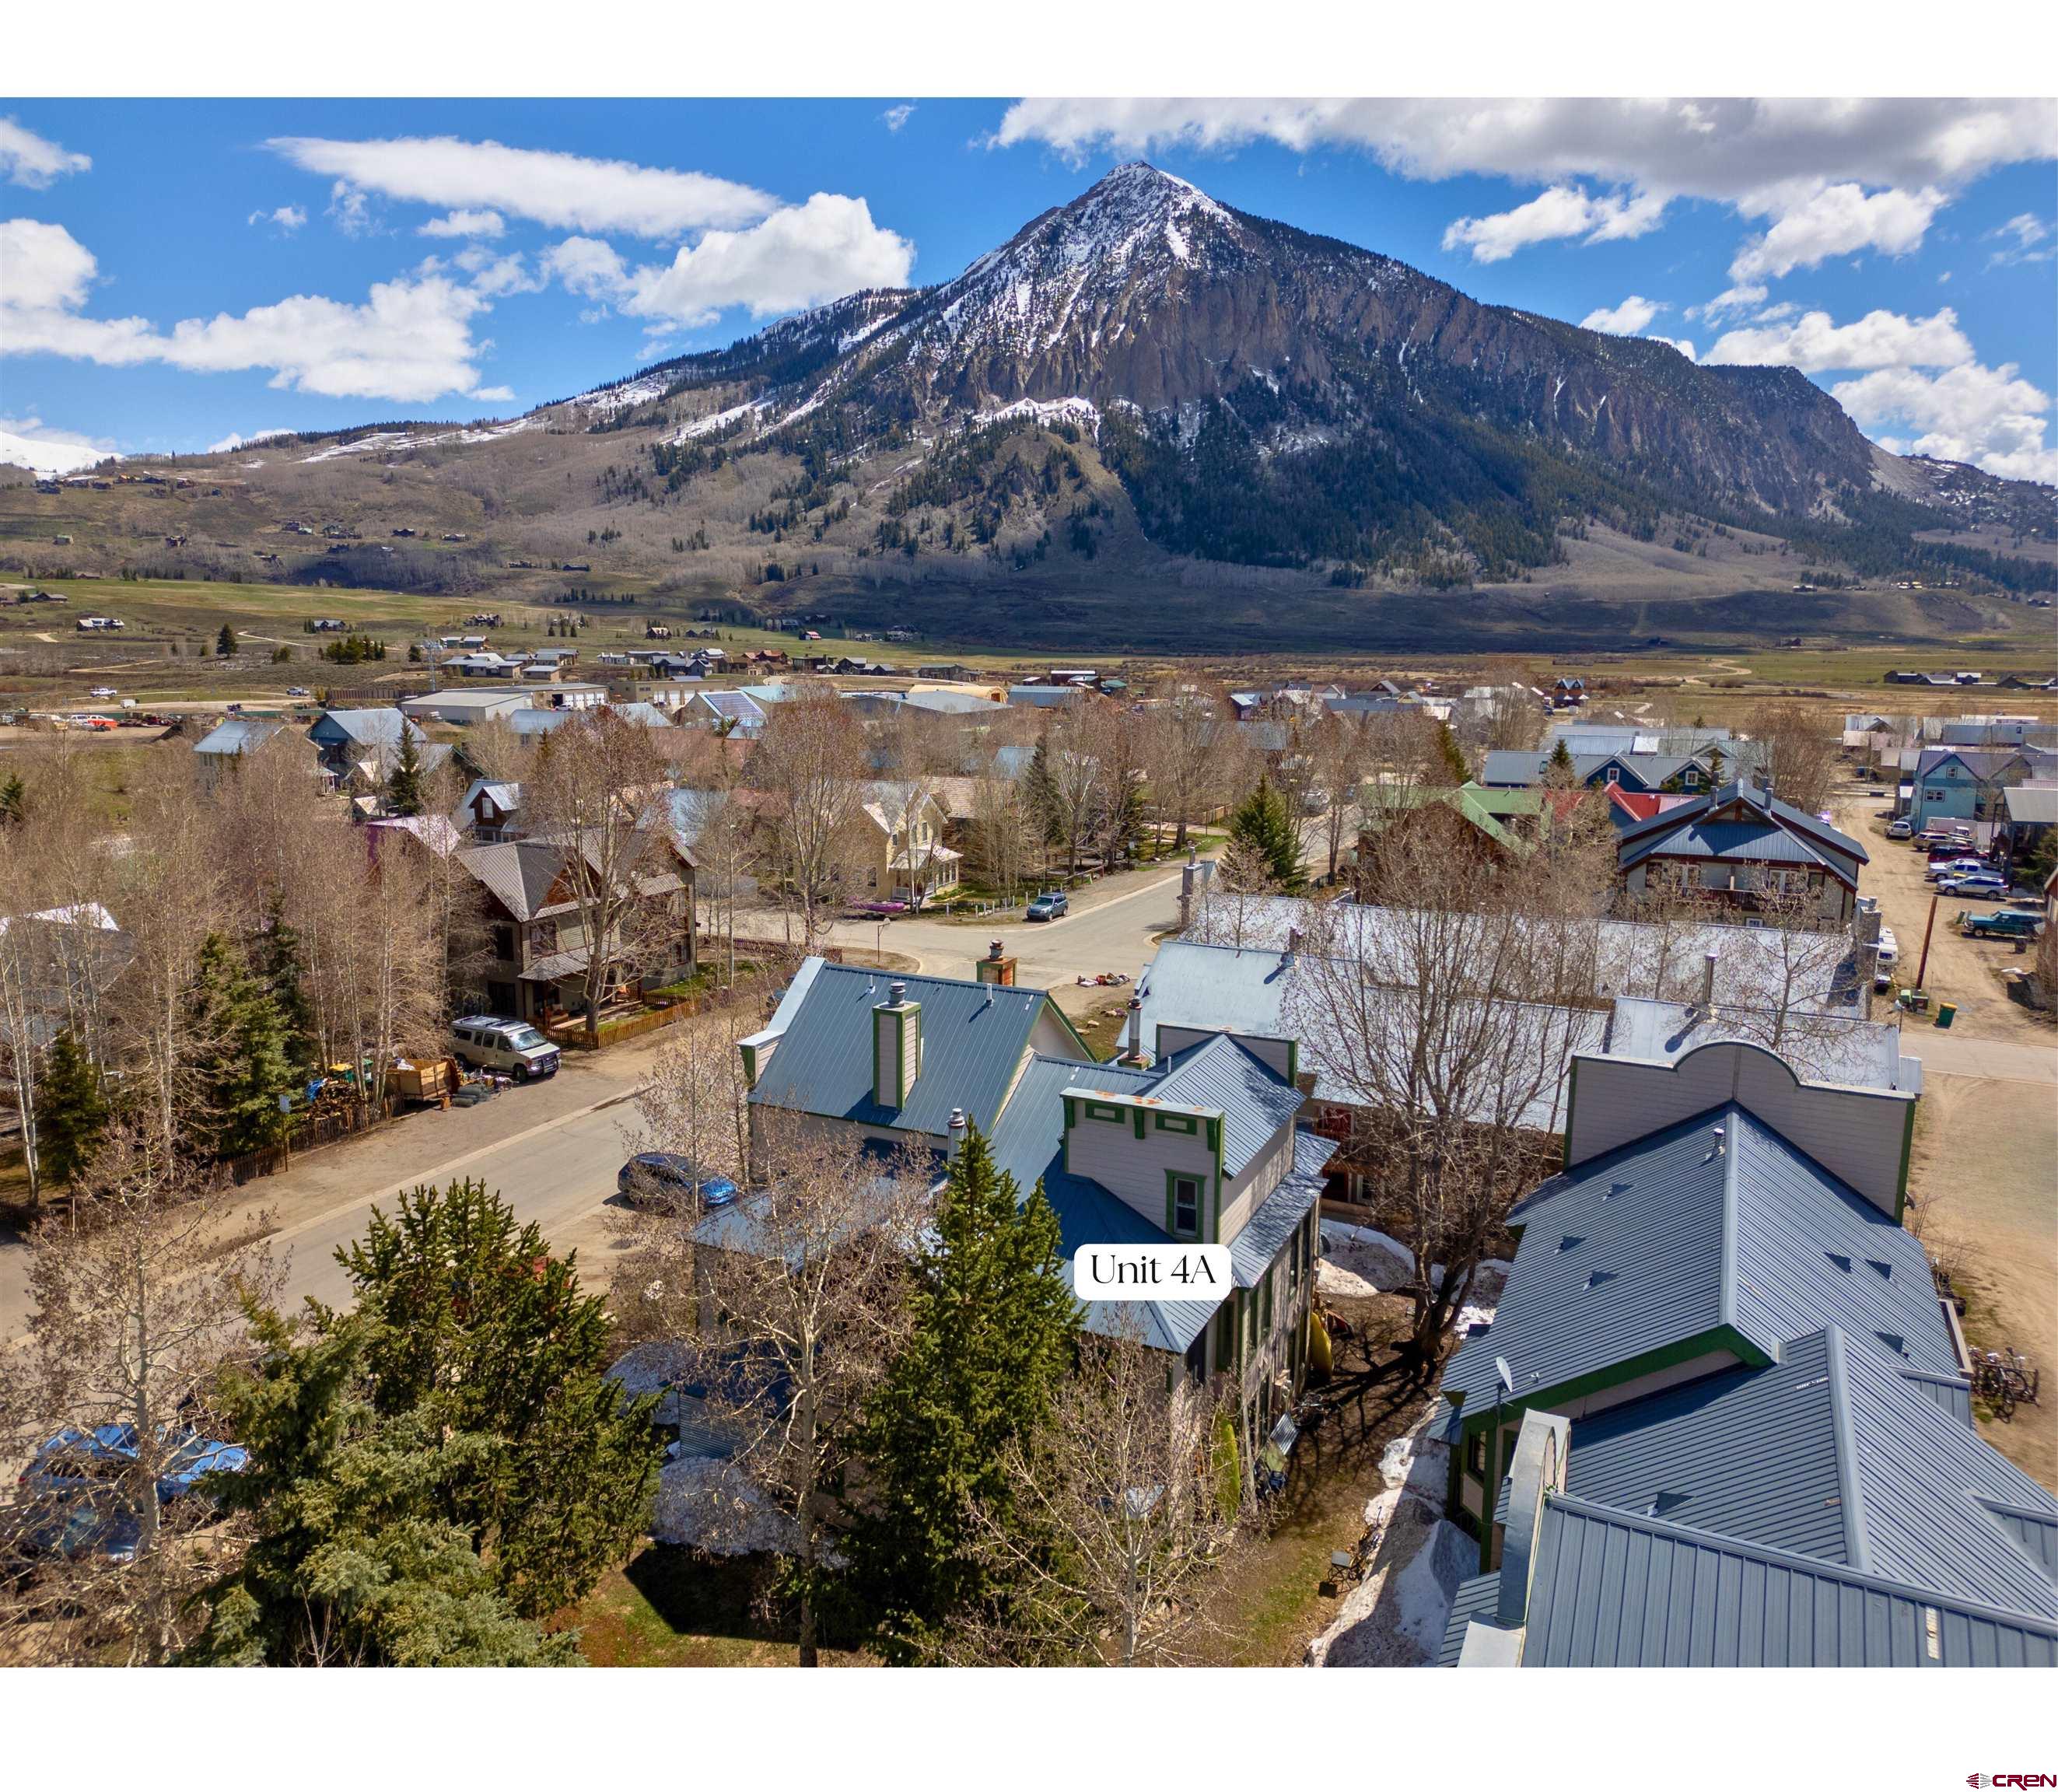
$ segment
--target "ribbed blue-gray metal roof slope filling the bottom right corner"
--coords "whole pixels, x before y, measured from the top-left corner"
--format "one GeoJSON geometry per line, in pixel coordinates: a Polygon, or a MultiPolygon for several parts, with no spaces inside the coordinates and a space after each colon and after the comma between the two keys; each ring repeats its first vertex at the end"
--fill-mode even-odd
{"type": "Polygon", "coordinates": [[[2058,1666],[2044,1619],[1574,1498],[1533,1562],[1523,1666],[2058,1666]]]}

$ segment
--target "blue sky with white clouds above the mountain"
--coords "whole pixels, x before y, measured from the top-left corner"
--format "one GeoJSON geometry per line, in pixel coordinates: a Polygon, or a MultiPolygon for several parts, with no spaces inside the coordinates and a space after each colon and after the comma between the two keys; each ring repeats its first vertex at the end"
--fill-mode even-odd
{"type": "MultiPolygon", "coordinates": [[[[936,282],[1144,154],[1572,323],[1801,366],[2058,483],[2031,101],[0,101],[0,432],[510,416],[936,282]]],[[[51,451],[45,446],[43,451],[51,451]]]]}

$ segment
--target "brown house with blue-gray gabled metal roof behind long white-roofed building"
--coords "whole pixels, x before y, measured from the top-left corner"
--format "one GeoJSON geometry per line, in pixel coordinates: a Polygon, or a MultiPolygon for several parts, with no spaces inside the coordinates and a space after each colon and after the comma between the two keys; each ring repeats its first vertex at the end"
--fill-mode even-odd
{"type": "Polygon", "coordinates": [[[1821,926],[1848,928],[1871,854],[1828,821],[1745,780],[1624,827],[1616,870],[1632,903],[1692,895],[1753,913],[1793,899],[1821,926]]]}

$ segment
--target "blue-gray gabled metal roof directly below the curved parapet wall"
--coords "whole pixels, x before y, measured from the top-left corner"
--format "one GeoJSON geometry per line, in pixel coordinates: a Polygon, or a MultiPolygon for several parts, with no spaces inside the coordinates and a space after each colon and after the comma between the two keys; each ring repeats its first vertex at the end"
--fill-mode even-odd
{"type": "Polygon", "coordinates": [[[1492,1399],[1496,1356],[1523,1399],[1716,1325],[1764,1360],[1840,1325],[1897,1366],[1957,1370],[1922,1247],[1735,1103],[1554,1177],[1515,1224],[1492,1329],[1445,1368],[1445,1395],[1471,1409],[1492,1399]]]}

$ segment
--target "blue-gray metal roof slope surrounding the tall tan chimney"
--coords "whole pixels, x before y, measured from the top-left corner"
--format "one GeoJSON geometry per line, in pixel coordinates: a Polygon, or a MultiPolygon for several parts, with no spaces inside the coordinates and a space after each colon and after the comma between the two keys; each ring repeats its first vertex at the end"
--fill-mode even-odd
{"type": "Polygon", "coordinates": [[[1043,990],[825,963],[751,1101],[936,1138],[949,1134],[951,1109],[961,1107],[990,1127],[1048,1004],[1043,990]],[[922,1068],[899,1109],[873,1099],[873,1008],[887,1000],[887,983],[906,983],[908,1000],[922,1004],[922,1068]]]}

